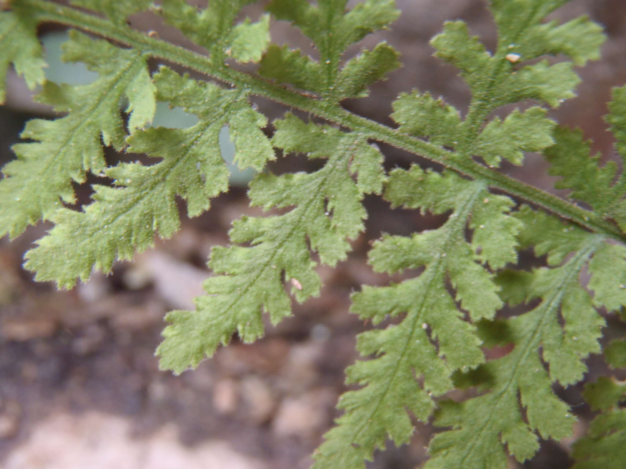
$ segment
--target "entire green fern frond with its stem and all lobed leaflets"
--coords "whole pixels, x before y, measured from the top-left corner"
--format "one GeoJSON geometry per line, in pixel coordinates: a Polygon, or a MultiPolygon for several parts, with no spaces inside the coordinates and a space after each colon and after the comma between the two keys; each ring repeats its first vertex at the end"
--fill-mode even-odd
{"type": "MultiPolygon", "coordinates": [[[[506,468],[508,455],[531,458],[540,439],[572,435],[575,417],[553,391],[583,380],[585,358],[600,353],[604,316],[626,305],[626,179],[620,166],[599,166],[580,130],[559,126],[550,108],[575,96],[574,65],[599,57],[602,29],[587,18],[566,23],[546,16],[568,0],[490,0],[498,41],[488,51],[463,21],[451,21],[431,41],[435,55],[459,69],[471,93],[461,114],[443,99],[417,89],[393,103],[390,128],[349,113],[346,98],[401,63],[387,43],[347,51],[367,34],[387,28],[400,12],[392,0],[272,0],[257,21],[245,17],[254,0],[209,0],[205,9],[183,0],[14,0],[0,13],[0,98],[9,66],[36,98],[62,117],[30,121],[16,144],[17,158],[0,181],[0,234],[12,238],[39,220],[54,227],[26,253],[24,266],[41,281],[71,288],[93,269],[109,272],[168,238],[180,224],[175,199],[189,216],[228,189],[228,169],[218,138],[227,126],[239,168],[259,171],[250,203],[282,208],[279,215],[244,216],[233,223],[233,245],[214,248],[213,275],[194,311],[172,311],[157,350],[163,369],[180,373],[227,345],[234,333],[245,341],[264,335],[262,315],[272,323],[291,314],[291,301],[319,294],[316,266],[346,259],[364,229],[364,194],[393,206],[446,214],[437,229],[412,236],[384,235],[371,248],[375,271],[418,272],[398,284],[362,286],[352,313],[379,325],[358,336],[363,356],[347,369],[357,385],[339,401],[342,415],[314,453],[314,468],[364,468],[391,439],[409,441],[413,419],[439,428],[429,445],[432,469],[506,468]],[[76,9],[73,7],[80,7],[76,9]],[[91,10],[91,12],[89,11],[91,10]],[[131,28],[128,16],[159,15],[206,54],[131,28]],[[270,21],[288,21],[317,49],[317,59],[271,42],[270,21]],[[38,25],[65,24],[73,31],[64,60],[81,61],[98,73],[88,85],[46,81],[38,25]],[[86,35],[88,33],[90,35],[86,35]],[[97,37],[99,36],[99,37],[97,37]],[[107,40],[108,39],[108,40],[107,40]],[[546,56],[563,56],[554,61],[546,56]],[[215,78],[198,81],[156,59],[215,78]],[[238,64],[257,64],[255,68],[238,64]],[[252,71],[251,71],[252,70],[252,71]],[[228,86],[225,86],[228,85],[228,86]],[[326,121],[286,113],[274,121],[250,102],[263,96],[326,121]],[[532,105],[527,101],[531,100],[532,105]],[[184,129],[151,126],[156,103],[195,114],[184,129]],[[494,111],[515,105],[503,117],[494,111]],[[126,118],[123,118],[123,116],[126,118]],[[443,171],[383,169],[380,141],[419,154],[443,171]],[[160,161],[109,166],[104,146],[160,161]],[[323,160],[309,174],[264,171],[268,161],[304,153],[323,160]],[[570,189],[565,201],[498,171],[502,159],[523,164],[540,152],[570,189]],[[94,184],[92,202],[76,210],[73,184],[88,173],[113,179],[94,184]],[[546,265],[524,270],[518,251],[546,256],[546,265]],[[588,278],[588,281],[583,281],[588,278]],[[285,283],[291,285],[290,291],[285,283]],[[513,314],[507,305],[531,303],[513,314]],[[485,350],[507,346],[503,356],[485,350]],[[446,393],[473,388],[460,400],[446,393]]],[[[613,90],[606,121],[626,161],[626,87],[613,90]]],[[[626,346],[613,340],[604,350],[613,368],[626,366],[626,346]]],[[[601,411],[588,435],[573,445],[575,468],[621,468],[626,455],[623,383],[602,377],[585,387],[601,411]]],[[[455,394],[454,396],[459,396],[455,394]]]]}

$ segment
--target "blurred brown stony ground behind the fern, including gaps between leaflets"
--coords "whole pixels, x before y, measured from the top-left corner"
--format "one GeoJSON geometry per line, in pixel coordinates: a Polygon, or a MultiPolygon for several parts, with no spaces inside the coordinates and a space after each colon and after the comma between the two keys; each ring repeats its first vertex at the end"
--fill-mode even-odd
{"type": "MultiPolygon", "coordinates": [[[[356,2],[350,2],[353,4],[356,2]]],[[[428,40],[446,19],[464,19],[487,47],[495,45],[495,28],[481,0],[397,0],[403,15],[393,29],[369,36],[359,47],[386,40],[402,54],[404,67],[372,87],[369,98],[349,100],[346,108],[386,124],[391,102],[403,91],[418,88],[442,95],[464,111],[468,90],[456,69],[433,58],[428,40]]],[[[196,2],[202,6],[202,2],[196,2]]],[[[245,10],[257,18],[267,2],[245,10]]],[[[578,98],[552,116],[579,126],[603,161],[616,159],[602,116],[612,86],[626,83],[626,3],[621,0],[575,0],[556,14],[571,19],[588,14],[609,35],[601,61],[579,69],[583,84],[578,98]]],[[[130,23],[155,30],[163,39],[201,51],[180,33],[155,24],[151,14],[137,14],[130,23]]],[[[309,40],[283,22],[272,25],[273,39],[314,54],[309,40]]],[[[46,24],[40,30],[53,81],[84,84],[93,74],[81,64],[63,64],[59,46],[66,32],[46,24]]],[[[157,63],[153,63],[157,66],[157,63]]],[[[197,78],[201,78],[197,76],[197,78]]],[[[11,145],[31,118],[51,118],[50,109],[31,103],[31,93],[14,74],[9,76],[6,106],[0,108],[0,164],[12,159],[11,145]]],[[[265,99],[253,99],[260,111],[275,119],[287,110],[265,99]]],[[[510,111],[505,109],[503,112],[510,111]]],[[[159,108],[155,124],[185,127],[194,117],[182,109],[159,108]]],[[[267,132],[271,133],[269,126],[267,132]]],[[[227,128],[220,138],[224,158],[232,157],[227,128]]],[[[427,161],[381,145],[387,168],[427,161]]],[[[110,164],[128,156],[107,153],[110,164]]],[[[135,155],[131,156],[136,159],[135,155]]],[[[148,162],[148,160],[145,160],[148,162]]],[[[310,170],[302,156],[279,158],[271,170],[310,170]]],[[[349,295],[362,284],[385,285],[388,276],[366,265],[367,242],[382,232],[408,235],[438,226],[443,218],[416,211],[392,210],[376,197],[366,198],[367,231],[354,241],[349,259],[336,269],[321,266],[324,290],[304,305],[294,302],[294,316],[279,326],[267,324],[267,335],[252,345],[233,338],[212,360],[180,376],[158,371],[153,351],[160,341],[168,310],[193,308],[202,294],[200,283],[210,249],[228,242],[227,230],[241,214],[259,216],[249,208],[245,184],[252,177],[235,168],[232,188],[215,199],[208,213],[183,218],[171,240],[156,240],[153,250],[132,263],[116,264],[112,275],[95,273],[72,291],[34,283],[21,268],[22,256],[49,224],[29,228],[9,243],[0,239],[0,466],[7,469],[304,469],[310,453],[337,416],[334,405],[346,390],[344,368],[356,358],[354,336],[366,326],[348,313],[349,295]]],[[[511,176],[553,191],[555,178],[546,174],[539,155],[530,154],[523,168],[503,166],[511,176]]],[[[101,183],[101,179],[98,179],[101,183]]],[[[77,187],[81,204],[88,203],[90,183],[77,187]]],[[[557,192],[558,193],[558,192],[557,192]]],[[[562,194],[562,193],[561,193],[562,194]]],[[[183,205],[183,203],[182,203],[183,205]]],[[[523,259],[530,256],[523,256],[523,259]]],[[[401,276],[393,280],[401,280],[401,276]]],[[[608,338],[619,335],[612,324],[608,338]]],[[[623,330],[622,330],[623,333],[623,330]]],[[[601,358],[588,360],[589,379],[605,373],[601,358]]],[[[623,376],[622,376],[623,377],[623,376]]],[[[592,414],[580,396],[582,386],[557,390],[574,406],[585,431],[592,414]]],[[[460,397],[460,396],[459,396],[460,397]]],[[[410,445],[379,453],[370,468],[413,468],[426,458],[424,446],[433,428],[418,425],[410,445]]],[[[573,440],[572,440],[573,441],[573,440]]],[[[572,441],[546,442],[533,460],[511,468],[568,468],[572,441]]]]}

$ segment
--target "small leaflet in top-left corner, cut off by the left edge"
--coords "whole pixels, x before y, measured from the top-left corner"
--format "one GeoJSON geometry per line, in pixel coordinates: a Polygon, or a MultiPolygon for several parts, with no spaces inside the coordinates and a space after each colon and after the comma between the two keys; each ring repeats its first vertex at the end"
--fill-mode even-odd
{"type": "Polygon", "coordinates": [[[6,74],[11,64],[30,89],[46,81],[37,23],[28,10],[17,6],[0,13],[0,104],[6,97],[6,74]]]}

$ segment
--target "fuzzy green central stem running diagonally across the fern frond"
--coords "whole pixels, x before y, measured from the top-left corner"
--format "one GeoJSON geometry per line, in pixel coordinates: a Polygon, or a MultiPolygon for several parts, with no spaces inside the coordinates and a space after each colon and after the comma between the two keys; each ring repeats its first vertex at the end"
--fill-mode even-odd
{"type": "Polygon", "coordinates": [[[582,209],[552,194],[546,193],[528,184],[516,181],[504,174],[493,171],[470,158],[454,158],[454,153],[418,138],[399,133],[396,129],[352,114],[339,104],[324,99],[314,99],[295,91],[280,88],[261,78],[228,68],[225,64],[217,64],[209,58],[175,44],[150,38],[147,34],[113,24],[91,14],[76,9],[51,3],[44,0],[21,0],[20,6],[29,7],[39,21],[52,21],[80,28],[108,39],[113,39],[141,51],[150,56],[165,59],[187,68],[216,78],[225,83],[234,84],[247,89],[250,94],[264,96],[279,103],[307,111],[321,118],[340,124],[361,133],[373,140],[382,141],[413,154],[418,154],[458,173],[473,179],[485,181],[491,188],[498,188],[508,194],[518,196],[548,211],[570,219],[595,233],[608,236],[622,243],[626,235],[592,211],[582,209]]]}

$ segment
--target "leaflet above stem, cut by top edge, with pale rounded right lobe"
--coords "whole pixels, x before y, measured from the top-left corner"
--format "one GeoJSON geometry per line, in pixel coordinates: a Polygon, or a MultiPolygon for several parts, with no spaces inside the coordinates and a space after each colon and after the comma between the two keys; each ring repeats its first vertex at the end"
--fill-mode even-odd
{"type": "Polygon", "coordinates": [[[157,11],[193,42],[206,48],[221,62],[232,56],[240,62],[258,62],[269,44],[269,16],[256,23],[245,19],[233,25],[239,11],[255,0],[212,0],[198,8],[182,0],[163,0],[157,11]]]}

